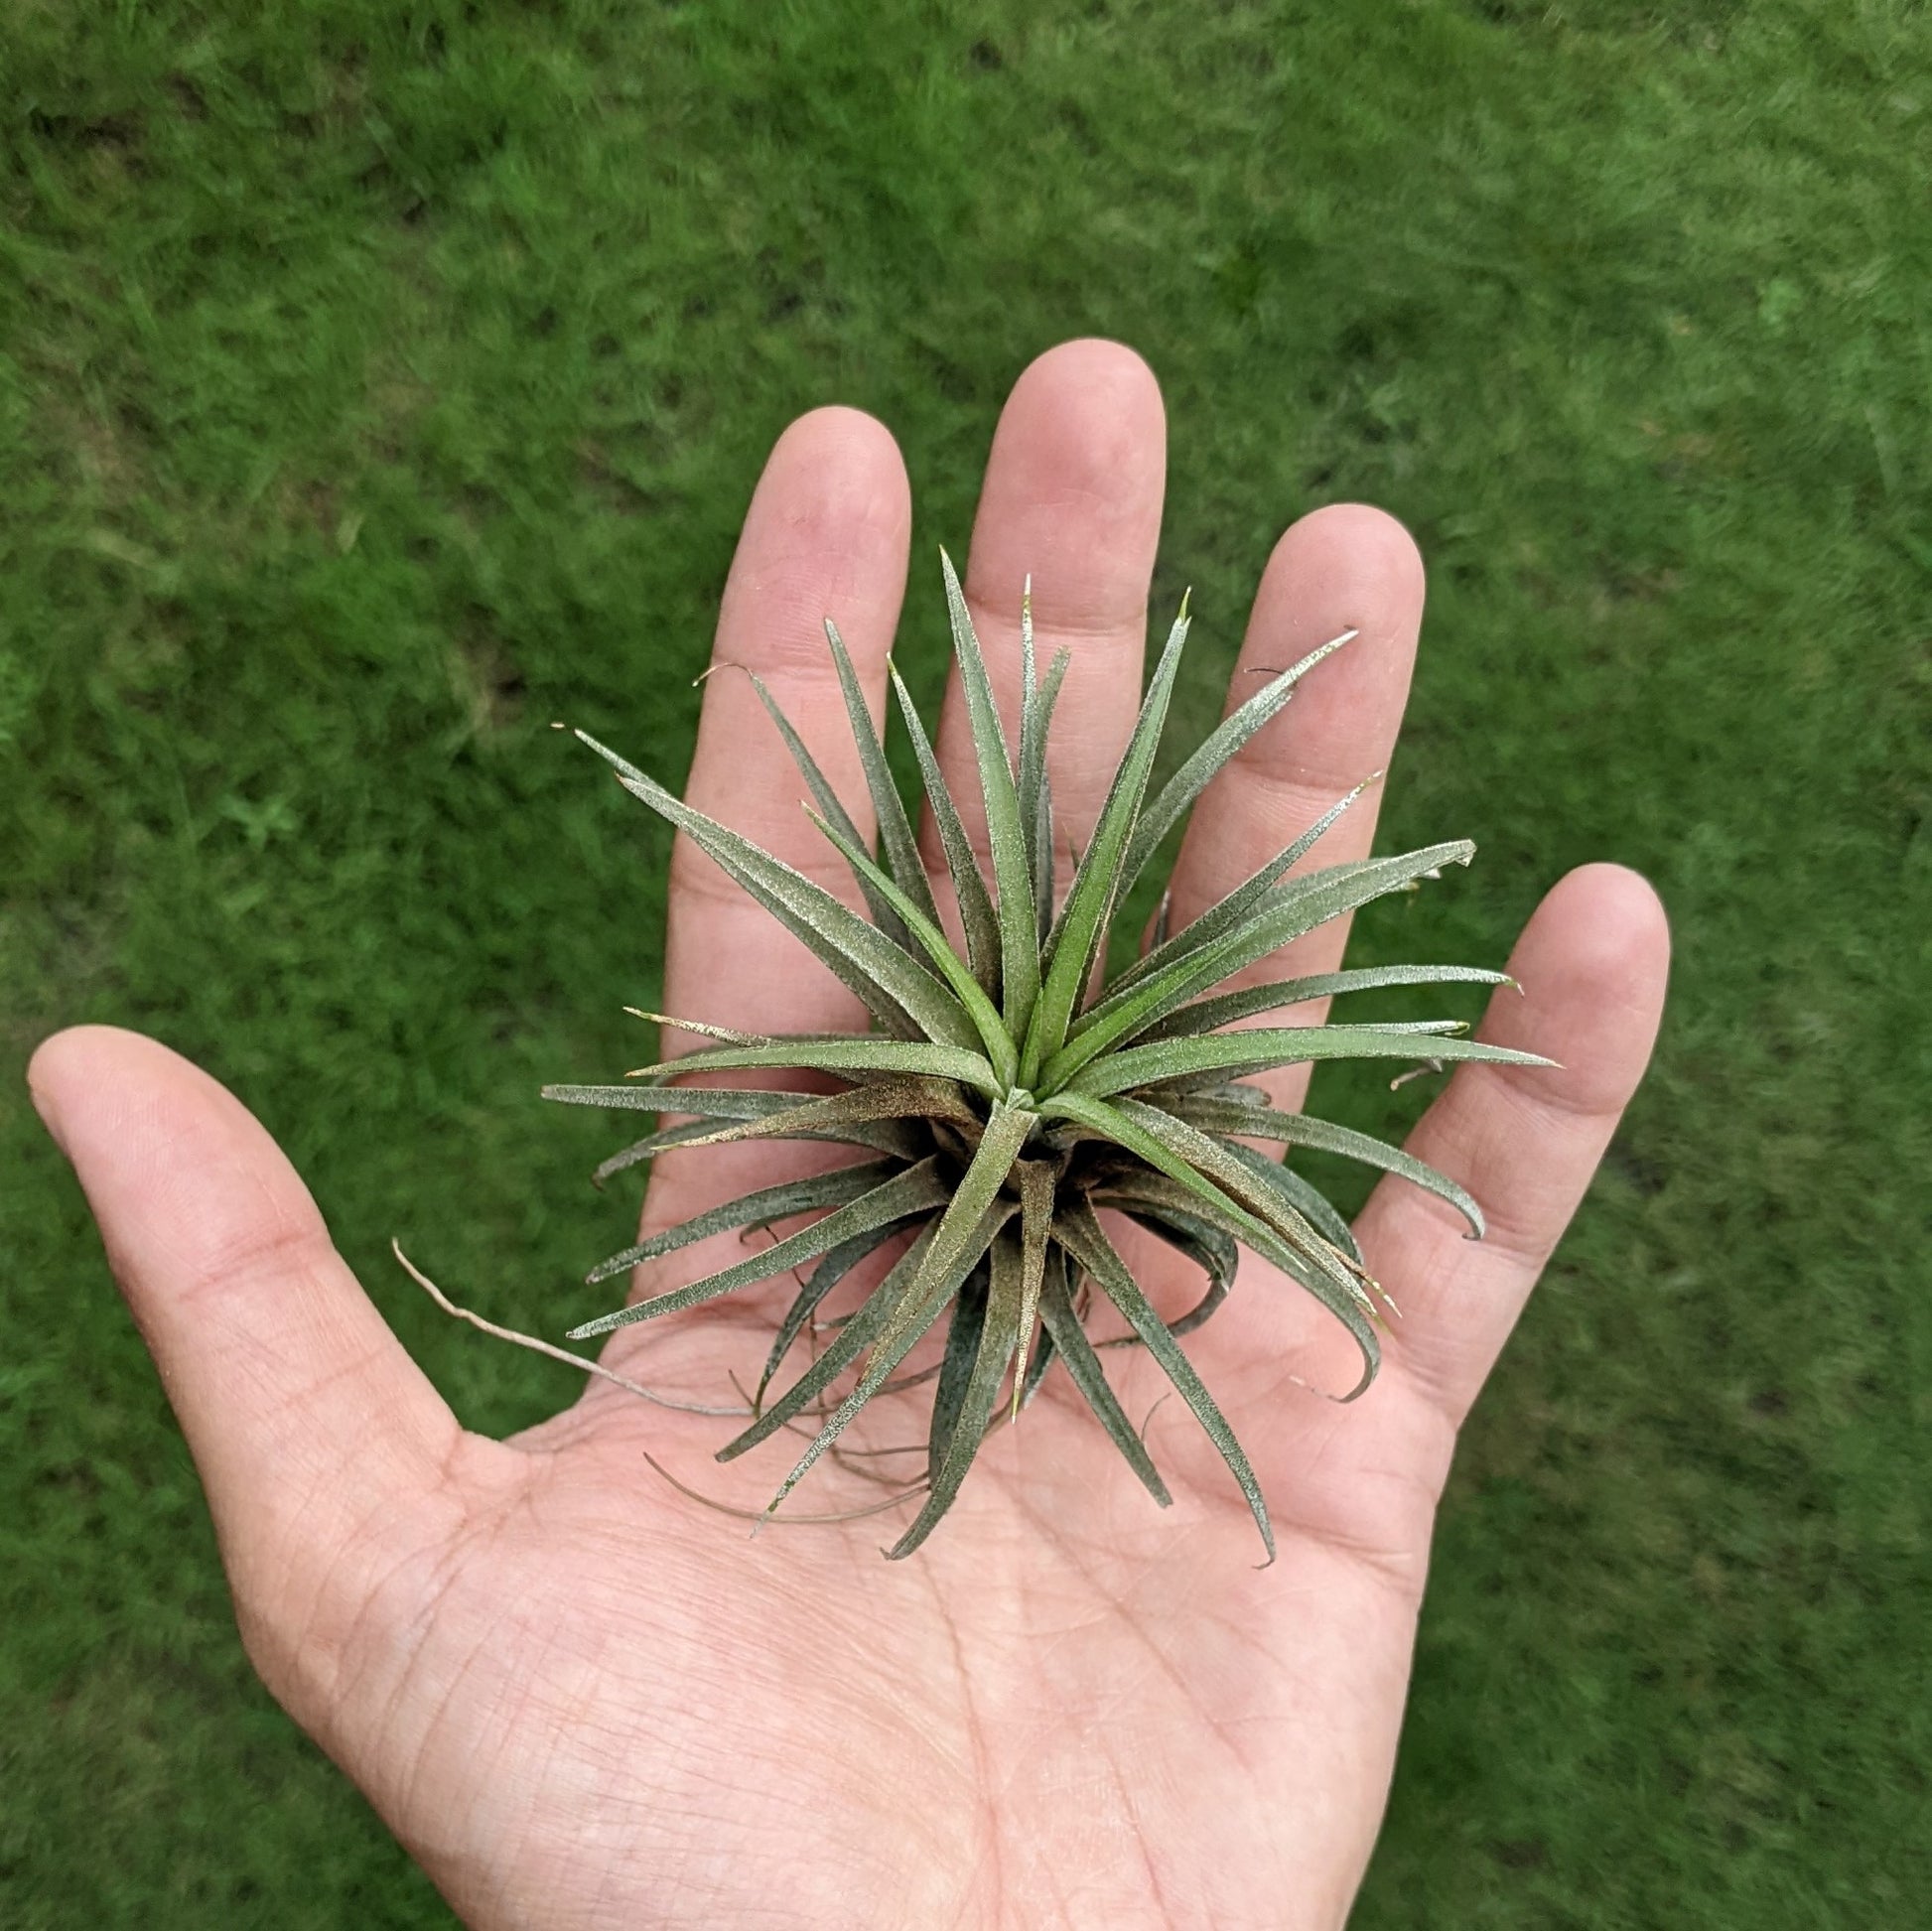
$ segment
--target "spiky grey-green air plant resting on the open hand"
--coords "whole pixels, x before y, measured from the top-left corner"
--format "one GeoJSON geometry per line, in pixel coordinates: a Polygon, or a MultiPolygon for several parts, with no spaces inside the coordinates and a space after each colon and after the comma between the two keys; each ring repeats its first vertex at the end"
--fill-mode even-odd
{"type": "MultiPolygon", "coordinates": [[[[1385,893],[1466,864],[1466,841],[1389,858],[1296,872],[1321,833],[1360,796],[1341,798],[1179,932],[1157,922],[1142,955],[1101,980],[1109,932],[1163,837],[1209,779],[1289,702],[1296,682],[1343,648],[1343,632],[1279,671],[1240,704],[1150,796],[1150,777],[1188,634],[1186,599],[1155,663],[1146,700],[1086,850],[1057,887],[1057,837],[1047,783],[1047,731],[1066,653],[1037,675],[1030,595],[1020,622],[1018,746],[993,704],[980,642],[949,559],[952,646],[980,765],[991,876],[974,854],[960,810],[898,671],[893,686],[945,852],[945,883],[964,945],[947,936],[933,879],[906,804],[887,767],[852,661],[827,620],[858,760],[879,825],[877,854],[825,773],[761,682],[757,694],[796,760],[817,829],[838,850],[869,916],[717,820],[692,810],[616,752],[578,733],[609,760],[624,789],[684,831],[746,893],[796,934],[871,1013],[866,1034],[757,1036],[701,1021],[667,1021],[719,1040],[680,1059],[639,1067],[616,1086],[547,1086],[551,1100],[676,1115],[599,1167],[599,1179],[667,1148],[752,1138],[835,1140],[866,1158],[829,1173],[759,1187],[738,1200],[626,1247],[591,1282],[630,1270],[730,1229],[771,1229],[817,1216],[802,1231],[694,1280],[570,1330],[609,1334],[699,1307],[782,1274],[802,1280],[773,1336],[752,1423],[719,1450],[726,1461],[779,1428],[815,1417],[817,1428],[767,1513],[831,1450],[854,1415],[947,1318],[933,1378],[923,1502],[887,1552],[916,1550],[960,1492],[999,1413],[1018,1419],[1055,1361],[1142,1484],[1161,1504],[1167,1488],[1128,1421],[1086,1320],[1111,1307],[1122,1340],[1142,1343],[1200,1419],[1254,1512],[1273,1556],[1273,1531],[1254,1469],[1179,1338],[1227,1299],[1242,1247],[1312,1293],[1360,1349],[1368,1388],[1379,1365],[1378,1297],[1347,1220],[1283,1160],[1246,1140],[1316,1148],[1399,1173],[1449,1200],[1482,1233],[1482,1212],[1455,1181],[1420,1160],[1308,1113],[1279,1111],[1252,1077],[1318,1059],[1397,1059],[1422,1065],[1490,1059],[1548,1065],[1532,1053],[1459,1038],[1464,1024],[1424,1019],[1374,1024],[1267,1024],[1264,1015],[1308,999],[1383,986],[1505,984],[1476,966],[1372,966],[1244,984],[1223,982],[1269,959],[1325,920],[1385,893]],[[1240,1024],[1262,1019],[1260,1024],[1240,1024]],[[784,1069],[831,1077],[835,1090],[680,1084],[694,1073],[784,1069]],[[1192,1311],[1163,1318],[1150,1305],[1101,1220],[1115,1210],[1200,1268],[1206,1291],[1192,1311]],[[867,1256],[900,1245],[866,1299],[825,1322],[829,1345],[782,1392],[771,1394],[827,1295],[867,1256]],[[810,1274],[804,1270],[810,1268],[810,1274]],[[1097,1289],[1097,1295],[1094,1293],[1097,1289]],[[842,1396],[840,1384],[850,1378],[842,1396]],[[1009,1388],[1010,1382],[1010,1388],[1009,1388]]],[[[1070,854],[1068,854],[1070,856],[1070,854]]],[[[645,1015],[659,1017],[659,1015],[645,1015]]]]}

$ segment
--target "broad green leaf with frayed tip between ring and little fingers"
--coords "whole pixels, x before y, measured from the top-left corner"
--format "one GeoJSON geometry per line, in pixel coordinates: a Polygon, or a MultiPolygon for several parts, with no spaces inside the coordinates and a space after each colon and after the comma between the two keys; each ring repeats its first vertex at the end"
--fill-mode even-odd
{"type": "MultiPolygon", "coordinates": [[[[1306,878],[1275,885],[1246,918],[1236,920],[1219,937],[1182,953],[1128,992],[1101,999],[1082,1017],[1066,1048],[1039,1075],[1037,1090],[1053,1092],[1066,1084],[1103,1052],[1144,1032],[1231,972],[1240,972],[1314,932],[1316,926],[1358,910],[1372,899],[1401,891],[1445,864],[1466,864],[1474,850],[1476,847],[1466,841],[1430,845],[1393,858],[1310,872],[1306,878]]],[[[1024,1069],[1022,1059],[1022,1073],[1024,1069]]]]}

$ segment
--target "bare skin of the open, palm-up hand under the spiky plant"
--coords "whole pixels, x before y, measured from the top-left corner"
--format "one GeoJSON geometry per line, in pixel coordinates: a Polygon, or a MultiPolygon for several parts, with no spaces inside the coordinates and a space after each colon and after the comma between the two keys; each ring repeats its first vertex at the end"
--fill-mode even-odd
{"type": "MultiPolygon", "coordinates": [[[[968,595],[1009,715],[1028,570],[1043,661],[1072,651],[1053,783],[1076,837],[1138,702],[1163,458],[1146,365],[1070,342],[1020,377],[987,464],[968,595]]],[[[838,619],[877,709],[908,522],[877,421],[802,418],[757,485],[719,622],[717,655],[765,677],[862,823],[819,619],[838,619]]],[[[1242,671],[1347,624],[1362,634],[1204,798],[1177,918],[1389,764],[1420,617],[1420,559],[1381,512],[1323,508],[1283,535],[1242,671]]],[[[846,891],[746,680],[711,678],[703,704],[692,800],[846,891]]],[[[954,794],[972,794],[956,692],[941,750],[954,794]]],[[[1376,796],[1321,862],[1368,849],[1376,796]]],[[[682,841],[672,874],[670,1011],[769,1030],[860,1023],[682,841]]],[[[1323,970],[1341,939],[1323,928],[1258,972],[1323,970]]],[[[1020,1427],[995,1427],[952,1515],[902,1564],[877,1548],[912,1504],[748,1539],[643,1459],[757,1508],[796,1436],[717,1467],[732,1423],[595,1380],[514,1440],[468,1434],[296,1171],[209,1075],[85,1026],[41,1048],[31,1086],[193,1448],[249,1657],[466,1921],[1279,1931],[1347,1917],[1457,1428],[1638,1082],[1665,961],[1663,912],[1631,872],[1584,866],[1542,903],[1511,959],[1524,994],[1501,988],[1482,1036],[1561,1071],[1466,1065],[1416,1129],[1414,1150],[1484,1202],[1488,1241],[1464,1241],[1414,1187],[1372,1196],[1360,1239],[1405,1318],[1362,1401],[1308,1386],[1352,1378],[1347,1343],[1254,1258],[1190,1338],[1269,1494],[1273,1568],[1254,1566],[1246,1508],[1179,1401],[1148,1436],[1175,1492],[1163,1513],[1059,1370],[1020,1427]]],[[[1277,1092],[1293,1104],[1300,1082],[1277,1092]]],[[[645,1224],[802,1158],[672,1154],[645,1224]]],[[[728,1237],[674,1256],[634,1291],[732,1253],[728,1237]]],[[[1157,1305],[1190,1303],[1194,1282],[1130,1258],[1157,1305]]],[[[622,1330],[605,1361],[730,1401],[728,1374],[755,1372],[779,1299],[622,1330]]],[[[1165,1386],[1157,1367],[1136,1349],[1105,1359],[1138,1419],[1165,1386]]],[[[923,1396],[873,1415],[856,1440],[916,1440],[923,1396]]],[[[893,1467],[918,1459],[825,1463],[794,1504],[875,1500],[864,1471],[893,1467]]]]}

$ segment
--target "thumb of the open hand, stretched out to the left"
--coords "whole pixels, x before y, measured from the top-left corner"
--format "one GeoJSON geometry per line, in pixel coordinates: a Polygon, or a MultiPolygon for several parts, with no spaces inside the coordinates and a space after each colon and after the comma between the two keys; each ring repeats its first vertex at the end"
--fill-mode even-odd
{"type": "Polygon", "coordinates": [[[207,1073],[139,1034],[77,1026],[41,1046],[27,1084],[160,1369],[255,1651],[313,1608],[371,1523],[408,1517],[396,1504],[448,1465],[456,1417],[296,1169],[207,1073]]]}

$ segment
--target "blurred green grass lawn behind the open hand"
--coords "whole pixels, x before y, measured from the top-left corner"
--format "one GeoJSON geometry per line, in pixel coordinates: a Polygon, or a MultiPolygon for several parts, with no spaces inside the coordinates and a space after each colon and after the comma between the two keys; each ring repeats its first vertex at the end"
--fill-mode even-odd
{"type": "MultiPolygon", "coordinates": [[[[665,843],[545,727],[676,777],[782,423],[896,429],[929,572],[1076,332],[1167,389],[1179,742],[1289,518],[1422,541],[1387,839],[1482,854],[1370,953],[1499,959],[1596,856],[1677,930],[1356,1925],[1922,1910],[1920,6],[19,0],[0,79],[0,1919],[448,1921],[242,1660],[33,1042],[199,1057],[468,1421],[570,1396],[384,1253],[541,1324],[624,1216],[533,1092],[624,1063],[665,843]]],[[[923,574],[910,630],[929,696],[923,574]]]]}

